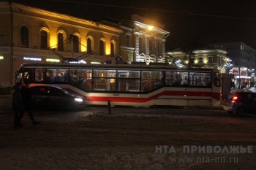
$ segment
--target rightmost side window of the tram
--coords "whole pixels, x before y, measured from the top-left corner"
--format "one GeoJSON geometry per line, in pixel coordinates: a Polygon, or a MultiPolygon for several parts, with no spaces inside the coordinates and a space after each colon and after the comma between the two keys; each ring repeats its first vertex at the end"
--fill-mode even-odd
{"type": "Polygon", "coordinates": [[[189,85],[211,87],[211,73],[189,72],[189,85]]]}

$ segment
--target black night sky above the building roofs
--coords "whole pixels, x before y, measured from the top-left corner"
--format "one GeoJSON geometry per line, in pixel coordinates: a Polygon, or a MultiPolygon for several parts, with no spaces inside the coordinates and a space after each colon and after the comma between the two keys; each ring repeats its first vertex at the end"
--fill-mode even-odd
{"type": "Polygon", "coordinates": [[[130,19],[138,14],[170,31],[166,49],[206,47],[215,42],[244,42],[256,48],[256,1],[244,0],[16,0],[19,4],[86,20],[130,19]]]}

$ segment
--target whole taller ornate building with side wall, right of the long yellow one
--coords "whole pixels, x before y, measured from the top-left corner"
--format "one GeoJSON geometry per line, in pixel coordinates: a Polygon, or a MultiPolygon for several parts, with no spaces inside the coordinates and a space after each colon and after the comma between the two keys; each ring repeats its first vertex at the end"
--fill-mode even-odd
{"type": "MultiPolygon", "coordinates": [[[[108,20],[101,23],[113,24],[108,20]]],[[[115,25],[112,25],[115,26],[115,25]]],[[[170,32],[160,23],[132,15],[130,20],[116,22],[116,28],[124,31],[120,36],[120,55],[127,63],[162,63],[165,62],[165,41],[170,32]]]]}

